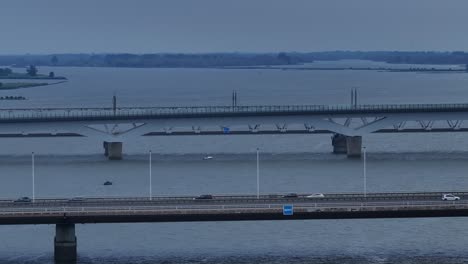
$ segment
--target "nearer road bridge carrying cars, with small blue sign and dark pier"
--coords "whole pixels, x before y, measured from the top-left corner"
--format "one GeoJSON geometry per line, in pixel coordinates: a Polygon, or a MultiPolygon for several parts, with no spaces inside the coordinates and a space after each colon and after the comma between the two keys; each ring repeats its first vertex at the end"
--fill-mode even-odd
{"type": "Polygon", "coordinates": [[[468,192],[0,200],[0,225],[54,224],[54,255],[76,259],[75,224],[468,216],[468,192]],[[200,197],[198,197],[200,198],[200,197]],[[286,213],[286,207],[289,207],[286,213]]]}

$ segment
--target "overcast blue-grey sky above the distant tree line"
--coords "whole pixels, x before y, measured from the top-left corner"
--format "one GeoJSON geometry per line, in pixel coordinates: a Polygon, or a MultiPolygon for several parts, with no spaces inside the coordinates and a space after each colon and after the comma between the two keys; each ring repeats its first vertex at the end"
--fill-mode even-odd
{"type": "Polygon", "coordinates": [[[0,54],[468,51],[467,0],[0,0],[0,54]]]}

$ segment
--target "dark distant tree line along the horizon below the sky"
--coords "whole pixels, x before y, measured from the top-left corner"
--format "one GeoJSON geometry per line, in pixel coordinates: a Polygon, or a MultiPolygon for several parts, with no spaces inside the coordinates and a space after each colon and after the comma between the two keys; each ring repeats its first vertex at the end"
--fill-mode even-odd
{"type": "Polygon", "coordinates": [[[158,54],[52,54],[0,55],[0,65],[167,67],[205,68],[235,66],[274,66],[334,60],[370,60],[398,64],[463,64],[468,69],[468,53],[404,51],[328,51],[279,53],[158,53],[158,54]]]}

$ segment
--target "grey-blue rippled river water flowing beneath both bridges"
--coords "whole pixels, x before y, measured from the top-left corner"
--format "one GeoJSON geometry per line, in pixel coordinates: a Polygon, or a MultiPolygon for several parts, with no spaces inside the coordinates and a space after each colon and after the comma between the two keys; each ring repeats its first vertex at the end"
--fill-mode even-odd
{"type": "MultiPolygon", "coordinates": [[[[338,62],[333,65],[363,65],[338,62]]],[[[324,63],[329,64],[329,63],[324,63]]],[[[375,65],[375,63],[372,63],[375,65]]],[[[468,74],[378,71],[40,68],[69,81],[1,91],[1,108],[466,103],[468,74]]],[[[369,135],[368,191],[466,191],[468,134],[369,135]]],[[[362,163],[335,156],[330,135],[149,137],[107,161],[93,138],[0,139],[0,198],[360,192],[362,163]],[[203,160],[205,155],[213,160],[203,160]],[[102,183],[110,180],[112,186],[102,183]]],[[[77,225],[78,263],[466,263],[466,218],[77,225]]],[[[0,263],[52,263],[54,226],[0,226],[0,263]]]]}

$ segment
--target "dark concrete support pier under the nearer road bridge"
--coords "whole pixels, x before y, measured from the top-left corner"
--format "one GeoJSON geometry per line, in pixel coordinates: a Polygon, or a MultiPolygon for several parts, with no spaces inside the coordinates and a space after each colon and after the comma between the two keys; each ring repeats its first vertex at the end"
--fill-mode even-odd
{"type": "Polygon", "coordinates": [[[55,225],[55,261],[75,261],[76,255],[75,224],[55,225]]]}

